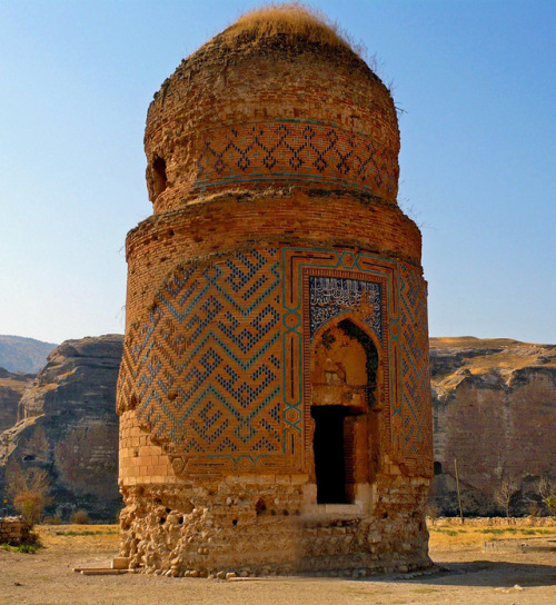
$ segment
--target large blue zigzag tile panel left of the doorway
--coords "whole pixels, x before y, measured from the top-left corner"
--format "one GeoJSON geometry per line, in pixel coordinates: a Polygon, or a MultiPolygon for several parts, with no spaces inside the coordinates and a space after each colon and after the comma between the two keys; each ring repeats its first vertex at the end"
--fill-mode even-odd
{"type": "Polygon", "coordinates": [[[182,459],[279,453],[279,282],[274,248],[176,268],[128,330],[120,409],[182,459]]]}

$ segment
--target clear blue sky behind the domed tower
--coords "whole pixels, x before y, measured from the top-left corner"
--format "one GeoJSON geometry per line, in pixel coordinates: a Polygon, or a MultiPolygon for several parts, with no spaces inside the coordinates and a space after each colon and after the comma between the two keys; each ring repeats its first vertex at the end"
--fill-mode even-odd
{"type": "MultiPolygon", "coordinates": [[[[155,91],[251,1],[0,0],[0,334],[122,333],[155,91]]],[[[556,2],[317,1],[405,113],[433,336],[556,343],[556,2]]]]}

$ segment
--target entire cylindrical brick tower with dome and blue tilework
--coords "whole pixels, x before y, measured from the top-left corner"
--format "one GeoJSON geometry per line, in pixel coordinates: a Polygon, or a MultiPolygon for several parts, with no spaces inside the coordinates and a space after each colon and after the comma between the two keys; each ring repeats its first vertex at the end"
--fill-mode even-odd
{"type": "Polygon", "coordinates": [[[388,89],[327,24],[270,9],[181,62],[145,147],[121,556],[171,575],[427,566],[426,282],[388,89]]]}

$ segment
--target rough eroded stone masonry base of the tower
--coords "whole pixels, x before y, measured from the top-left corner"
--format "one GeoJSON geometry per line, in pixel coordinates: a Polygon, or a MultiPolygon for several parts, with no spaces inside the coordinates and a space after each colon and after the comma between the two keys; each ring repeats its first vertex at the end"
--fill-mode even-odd
{"type": "Polygon", "coordinates": [[[120,556],[130,568],[170,576],[364,577],[423,569],[431,565],[428,533],[424,504],[415,503],[424,503],[428,482],[397,480],[388,513],[379,503],[369,510],[307,506],[301,484],[260,478],[122,486],[120,556]]]}

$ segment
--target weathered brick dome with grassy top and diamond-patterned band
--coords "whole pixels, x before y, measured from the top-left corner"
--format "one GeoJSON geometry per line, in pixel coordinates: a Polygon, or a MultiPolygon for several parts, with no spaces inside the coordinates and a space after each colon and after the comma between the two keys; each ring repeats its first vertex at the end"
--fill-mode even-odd
{"type": "Polygon", "coordinates": [[[258,9],[185,59],[149,108],[155,211],[222,189],[357,189],[396,201],[399,132],[388,89],[305,7],[258,9]]]}

